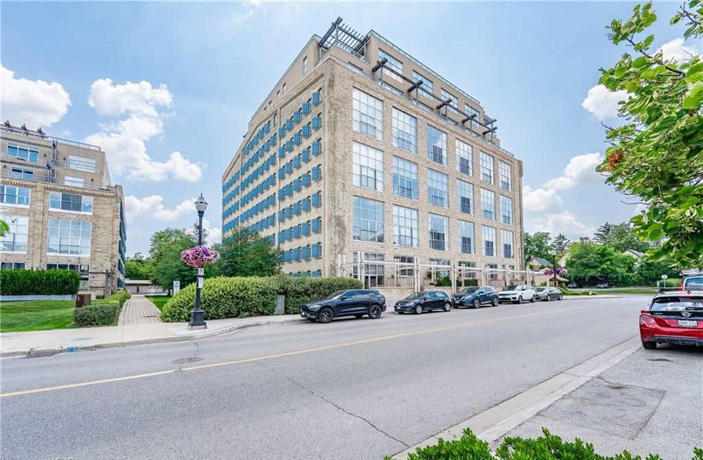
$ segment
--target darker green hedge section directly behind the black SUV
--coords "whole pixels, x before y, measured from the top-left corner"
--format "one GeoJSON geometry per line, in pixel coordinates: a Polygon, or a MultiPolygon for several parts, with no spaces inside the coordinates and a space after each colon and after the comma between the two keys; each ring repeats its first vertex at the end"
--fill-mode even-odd
{"type": "Polygon", "coordinates": [[[320,300],[335,290],[363,289],[363,283],[356,278],[307,278],[279,275],[273,277],[278,294],[285,295],[285,312],[296,314],[300,307],[313,300],[320,300]]]}

